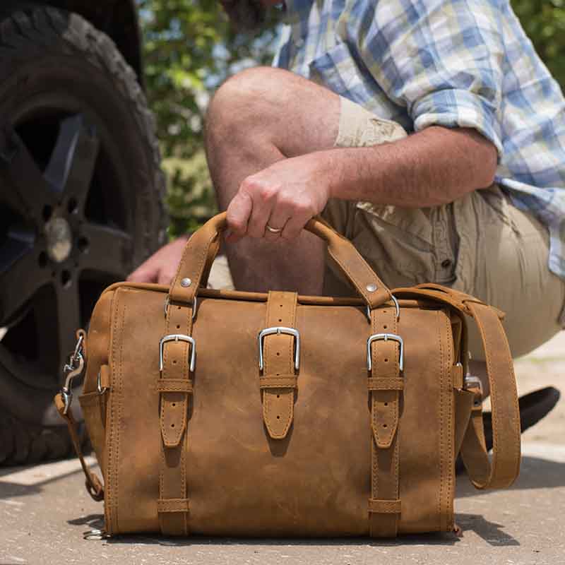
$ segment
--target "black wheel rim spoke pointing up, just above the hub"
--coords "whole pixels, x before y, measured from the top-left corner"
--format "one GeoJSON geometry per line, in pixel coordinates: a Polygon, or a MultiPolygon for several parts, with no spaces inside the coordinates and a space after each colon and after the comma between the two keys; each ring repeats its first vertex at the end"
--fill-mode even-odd
{"type": "Polygon", "coordinates": [[[95,130],[85,125],[82,114],[64,119],[44,172],[45,179],[61,196],[75,198],[84,206],[98,146],[95,130]]]}

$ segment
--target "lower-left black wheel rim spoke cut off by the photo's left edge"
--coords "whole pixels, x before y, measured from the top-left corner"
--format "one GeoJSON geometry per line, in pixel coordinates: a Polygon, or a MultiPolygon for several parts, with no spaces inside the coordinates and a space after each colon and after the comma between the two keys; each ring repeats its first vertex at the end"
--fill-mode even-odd
{"type": "Polygon", "coordinates": [[[18,237],[8,237],[0,257],[0,322],[6,323],[50,278],[32,245],[18,237]]]}

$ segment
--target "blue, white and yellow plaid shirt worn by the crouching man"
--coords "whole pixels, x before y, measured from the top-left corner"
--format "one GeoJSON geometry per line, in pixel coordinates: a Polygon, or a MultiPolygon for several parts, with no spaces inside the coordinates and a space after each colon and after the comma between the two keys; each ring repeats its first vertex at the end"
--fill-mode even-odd
{"type": "Polygon", "coordinates": [[[287,0],[275,66],[398,121],[472,127],[565,278],[565,101],[509,0],[287,0]]]}

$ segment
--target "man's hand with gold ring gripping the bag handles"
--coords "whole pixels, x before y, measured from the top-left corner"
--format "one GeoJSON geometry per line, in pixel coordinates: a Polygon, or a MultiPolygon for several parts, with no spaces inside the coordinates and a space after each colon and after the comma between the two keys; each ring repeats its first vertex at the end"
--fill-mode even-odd
{"type": "Polygon", "coordinates": [[[326,151],[280,160],[244,179],[227,208],[227,242],[246,235],[269,241],[297,238],[331,196],[335,172],[330,155],[326,151]],[[283,231],[273,234],[267,225],[283,231]]]}

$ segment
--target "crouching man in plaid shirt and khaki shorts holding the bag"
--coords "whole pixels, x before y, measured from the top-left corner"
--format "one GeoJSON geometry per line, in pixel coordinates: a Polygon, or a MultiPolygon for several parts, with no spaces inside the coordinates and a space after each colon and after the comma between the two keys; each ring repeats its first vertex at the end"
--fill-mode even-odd
{"type": "MultiPolygon", "coordinates": [[[[208,109],[235,286],[351,293],[302,230],[321,214],[389,287],[506,311],[515,357],[563,328],[565,102],[508,1],[287,0],[285,17],[279,68],[230,78],[208,109]]],[[[169,283],[185,241],[131,280],[169,283]]]]}

